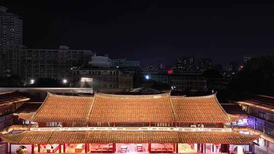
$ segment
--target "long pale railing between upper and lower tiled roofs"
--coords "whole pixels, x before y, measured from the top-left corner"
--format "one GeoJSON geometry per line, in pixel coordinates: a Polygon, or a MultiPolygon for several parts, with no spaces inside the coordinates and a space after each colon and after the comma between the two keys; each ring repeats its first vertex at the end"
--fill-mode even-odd
{"type": "Polygon", "coordinates": [[[173,127],[40,127],[32,131],[182,131],[182,132],[231,132],[231,128],[173,128],[173,127]]]}

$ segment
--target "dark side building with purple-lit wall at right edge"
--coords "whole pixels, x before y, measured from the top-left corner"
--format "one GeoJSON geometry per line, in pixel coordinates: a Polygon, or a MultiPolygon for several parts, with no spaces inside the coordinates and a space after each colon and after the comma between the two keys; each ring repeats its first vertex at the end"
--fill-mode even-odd
{"type": "Polygon", "coordinates": [[[248,113],[245,121],[248,130],[262,134],[256,140],[258,145],[255,146],[255,153],[274,153],[274,97],[246,95],[237,103],[248,113]]]}

